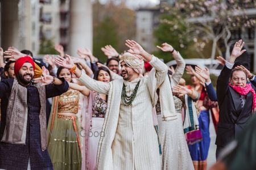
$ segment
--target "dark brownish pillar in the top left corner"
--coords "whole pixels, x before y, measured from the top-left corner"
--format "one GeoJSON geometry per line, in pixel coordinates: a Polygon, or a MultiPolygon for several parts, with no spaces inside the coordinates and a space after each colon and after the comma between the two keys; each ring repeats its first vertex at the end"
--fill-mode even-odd
{"type": "Polygon", "coordinates": [[[19,0],[1,3],[1,45],[4,50],[9,46],[19,46],[18,3],[19,0]]]}

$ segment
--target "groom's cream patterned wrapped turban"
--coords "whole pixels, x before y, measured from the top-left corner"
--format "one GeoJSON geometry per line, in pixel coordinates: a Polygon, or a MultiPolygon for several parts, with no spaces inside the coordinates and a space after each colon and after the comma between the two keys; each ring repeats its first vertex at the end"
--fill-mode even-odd
{"type": "Polygon", "coordinates": [[[142,74],[144,62],[141,56],[125,52],[122,54],[119,63],[125,62],[127,66],[131,67],[136,73],[142,74]]]}

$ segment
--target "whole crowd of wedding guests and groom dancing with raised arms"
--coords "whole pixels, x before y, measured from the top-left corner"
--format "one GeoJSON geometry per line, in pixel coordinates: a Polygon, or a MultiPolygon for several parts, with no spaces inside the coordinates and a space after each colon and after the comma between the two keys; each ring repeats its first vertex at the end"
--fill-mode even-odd
{"type": "Polygon", "coordinates": [[[122,54],[102,47],[105,64],[87,48],[71,57],[56,45],[59,56],[43,60],[1,48],[0,169],[207,169],[210,116],[211,169],[256,168],[256,79],[237,62],[242,40],[227,60],[217,57],[216,90],[207,67],[186,66],[166,42],[157,47],[175,69],[133,40],[125,45],[122,54]]]}

